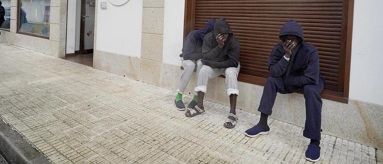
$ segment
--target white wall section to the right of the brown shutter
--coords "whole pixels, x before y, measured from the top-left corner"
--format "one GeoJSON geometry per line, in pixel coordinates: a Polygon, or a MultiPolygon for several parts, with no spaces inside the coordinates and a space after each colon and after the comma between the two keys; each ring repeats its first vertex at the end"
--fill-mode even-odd
{"type": "Polygon", "coordinates": [[[355,0],[350,96],[383,105],[382,0],[355,0]]]}

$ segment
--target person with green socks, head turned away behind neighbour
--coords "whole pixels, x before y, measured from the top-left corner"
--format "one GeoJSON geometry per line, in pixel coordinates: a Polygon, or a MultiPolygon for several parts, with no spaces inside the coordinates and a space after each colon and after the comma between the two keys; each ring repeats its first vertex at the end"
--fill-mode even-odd
{"type": "MultiPolygon", "coordinates": [[[[205,28],[200,30],[191,31],[186,37],[185,44],[182,48],[182,54],[180,54],[183,72],[181,74],[180,86],[178,87],[178,93],[174,100],[175,108],[178,110],[185,110],[185,105],[182,102],[182,94],[188,85],[193,71],[196,68],[196,79],[195,85],[198,80],[198,73],[202,67],[202,43],[205,35],[214,30],[214,24],[216,20],[211,18],[207,23],[205,28]]],[[[197,105],[197,92],[194,93],[193,100],[188,105],[188,108],[194,108],[197,105]]]]}

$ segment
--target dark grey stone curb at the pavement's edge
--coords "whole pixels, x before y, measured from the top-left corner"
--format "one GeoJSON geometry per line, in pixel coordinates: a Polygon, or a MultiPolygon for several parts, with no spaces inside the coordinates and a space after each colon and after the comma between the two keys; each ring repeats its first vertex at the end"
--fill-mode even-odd
{"type": "Polygon", "coordinates": [[[0,155],[5,159],[5,164],[51,164],[43,154],[2,120],[0,120],[0,155]]]}

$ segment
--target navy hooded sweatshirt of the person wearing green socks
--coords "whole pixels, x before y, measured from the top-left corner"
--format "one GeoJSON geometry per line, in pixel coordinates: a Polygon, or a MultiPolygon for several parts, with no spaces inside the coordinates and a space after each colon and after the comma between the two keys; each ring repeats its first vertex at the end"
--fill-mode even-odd
{"type": "Polygon", "coordinates": [[[182,54],[180,57],[183,57],[183,60],[199,60],[202,59],[202,43],[205,35],[214,30],[214,24],[216,20],[211,18],[207,23],[205,28],[200,30],[191,31],[186,37],[185,44],[182,48],[182,54]]]}

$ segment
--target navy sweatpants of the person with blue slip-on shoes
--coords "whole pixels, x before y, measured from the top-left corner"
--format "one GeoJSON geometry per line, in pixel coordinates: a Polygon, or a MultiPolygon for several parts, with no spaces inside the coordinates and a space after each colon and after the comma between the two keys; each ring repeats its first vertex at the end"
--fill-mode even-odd
{"type": "MultiPolygon", "coordinates": [[[[324,88],[324,82],[320,78],[319,81],[318,85],[303,87],[303,96],[306,99],[306,123],[303,136],[315,140],[321,140],[322,99],[319,94],[324,88]]],[[[259,104],[259,112],[271,115],[277,92],[292,93],[286,89],[282,78],[268,77],[259,104]]]]}

